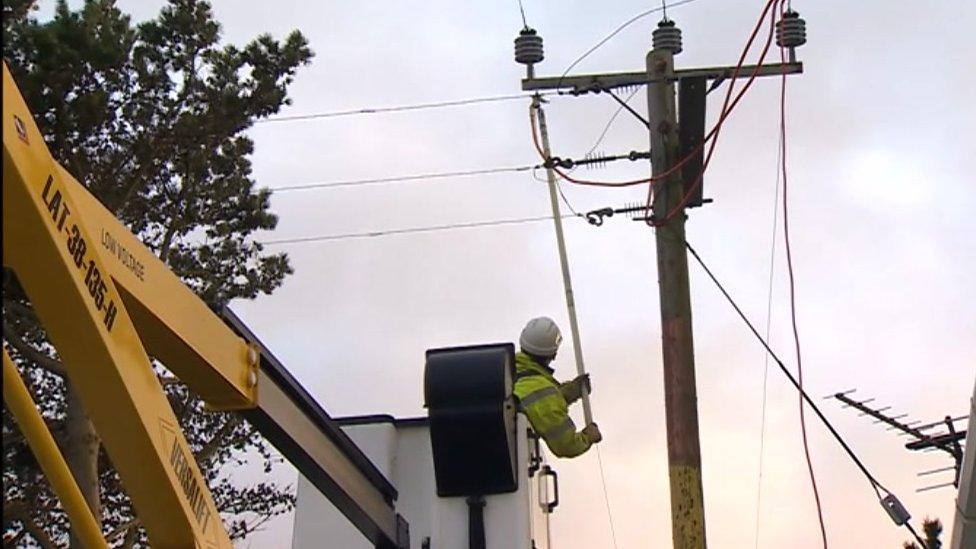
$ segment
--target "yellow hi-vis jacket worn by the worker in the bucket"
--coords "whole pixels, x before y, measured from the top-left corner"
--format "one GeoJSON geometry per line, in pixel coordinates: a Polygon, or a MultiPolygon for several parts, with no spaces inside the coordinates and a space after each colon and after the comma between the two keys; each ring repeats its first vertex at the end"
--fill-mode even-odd
{"type": "Polygon", "coordinates": [[[575,457],[590,449],[592,443],[569,417],[569,402],[578,398],[571,384],[560,385],[548,369],[543,368],[525,353],[515,355],[515,396],[519,408],[529,418],[558,457],[575,457]]]}

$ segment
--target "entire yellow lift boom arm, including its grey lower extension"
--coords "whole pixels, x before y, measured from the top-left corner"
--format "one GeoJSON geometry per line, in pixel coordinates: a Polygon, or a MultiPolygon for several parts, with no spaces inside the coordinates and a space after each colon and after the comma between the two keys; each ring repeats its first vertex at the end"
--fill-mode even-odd
{"type": "Polygon", "coordinates": [[[212,408],[244,412],[377,547],[407,547],[393,486],[239,319],[229,327],[57,164],[6,64],[3,116],[4,266],[153,545],[231,547],[148,355],[212,408]]]}

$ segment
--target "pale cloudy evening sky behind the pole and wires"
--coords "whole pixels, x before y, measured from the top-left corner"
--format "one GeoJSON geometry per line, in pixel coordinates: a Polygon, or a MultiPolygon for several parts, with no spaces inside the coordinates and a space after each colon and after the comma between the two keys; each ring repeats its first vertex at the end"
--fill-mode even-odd
{"type": "MultiPolygon", "coordinates": [[[[619,24],[654,6],[524,4],[528,24],[545,41],[539,76],[558,76],[619,24]]],[[[143,20],[162,2],[119,5],[143,20]]],[[[292,29],[309,39],[315,58],[299,70],[293,104],[282,115],[520,91],[524,67],[512,52],[522,25],[516,2],[213,5],[228,43],[262,32],[283,38],[292,29]]],[[[916,489],[950,479],[916,475],[950,465],[949,459],[909,452],[903,438],[820,397],[857,388],[856,396],[874,397],[874,404],[923,422],[969,407],[976,376],[976,4],[795,0],[793,7],[807,21],[809,37],[797,50],[804,74],[789,78],[786,100],[806,388],[912,512],[913,523],[939,517],[948,539],[953,491],[916,489]]],[[[734,64],[759,11],[760,2],[744,0],[697,0],[669,10],[684,33],[676,65],[734,64]]],[[[632,24],[573,72],[642,70],[658,19],[653,14],[632,24]]],[[[718,95],[709,102],[709,125],[718,95]]],[[[690,212],[688,239],[762,331],[772,288],[770,343],[794,368],[782,227],[773,230],[778,97],[778,79],[757,81],[723,126],[705,177],[705,194],[714,202],[690,212]]],[[[632,105],[646,112],[643,92],[632,105]]],[[[554,154],[578,158],[617,105],[604,94],[554,97],[546,108],[554,154]]],[[[255,178],[271,188],[539,162],[527,100],[262,123],[250,135],[255,178]]],[[[647,147],[646,130],[622,113],[597,150],[647,147]]],[[[646,177],[648,170],[646,163],[626,162],[579,173],[621,181],[646,177]]],[[[579,211],[636,202],[645,192],[569,184],[563,190],[579,211]]],[[[259,238],[544,216],[548,200],[545,184],[527,172],[281,192],[272,200],[279,226],[259,238]]],[[[668,546],[653,233],[620,216],[599,228],[568,219],[565,230],[594,415],[605,436],[600,450],[617,546],[668,546]]],[[[540,315],[569,332],[549,222],[272,249],[289,254],[295,274],[273,295],[233,308],[335,417],[422,415],[426,349],[515,341],[524,323],[540,315]]],[[[701,270],[690,268],[710,545],[821,547],[797,394],[773,363],[767,365],[762,348],[701,270]]],[[[574,365],[566,345],[556,367],[569,377],[574,365]]],[[[894,526],[810,413],[807,432],[830,546],[900,547],[907,531],[894,526]]],[[[553,516],[554,547],[612,547],[596,455],[557,460],[556,467],[561,504],[553,516]]],[[[275,474],[294,482],[296,473],[281,467],[275,474]]],[[[287,543],[290,520],[275,521],[249,546],[287,543]]]]}

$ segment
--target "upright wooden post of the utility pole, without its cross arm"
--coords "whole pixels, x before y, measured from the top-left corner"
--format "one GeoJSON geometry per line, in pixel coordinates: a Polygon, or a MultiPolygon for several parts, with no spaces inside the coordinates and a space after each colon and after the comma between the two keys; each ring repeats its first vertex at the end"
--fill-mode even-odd
{"type": "MultiPolygon", "coordinates": [[[[678,123],[674,109],[674,57],[654,49],[647,55],[647,106],[651,166],[655,176],[678,160],[678,123]]],[[[685,190],[681,170],[655,185],[654,219],[662,222],[679,207],[685,190]]],[[[698,397],[691,335],[691,297],[685,250],[684,208],[657,227],[657,276],[664,351],[664,408],[668,429],[671,481],[671,535],[675,549],[705,547],[698,397]]]]}

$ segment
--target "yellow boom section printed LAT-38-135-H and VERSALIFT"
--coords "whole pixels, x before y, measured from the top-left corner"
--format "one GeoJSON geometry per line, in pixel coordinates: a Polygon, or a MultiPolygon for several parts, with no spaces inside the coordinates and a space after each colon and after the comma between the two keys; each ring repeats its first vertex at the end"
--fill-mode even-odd
{"type": "Polygon", "coordinates": [[[30,297],[153,546],[232,547],[114,281],[116,260],[73,184],[4,64],[4,266],[30,297]]]}

